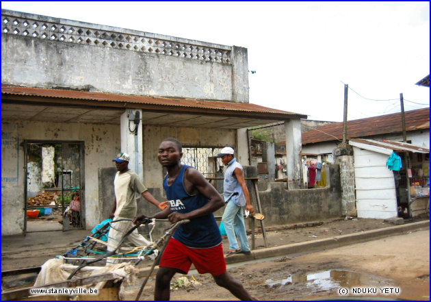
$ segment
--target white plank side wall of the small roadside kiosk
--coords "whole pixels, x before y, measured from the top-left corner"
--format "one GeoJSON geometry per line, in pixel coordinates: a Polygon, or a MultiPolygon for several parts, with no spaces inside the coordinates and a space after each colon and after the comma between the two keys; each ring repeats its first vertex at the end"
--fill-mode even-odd
{"type": "Polygon", "coordinates": [[[358,218],[397,217],[393,172],[386,167],[389,155],[353,147],[358,218]]]}

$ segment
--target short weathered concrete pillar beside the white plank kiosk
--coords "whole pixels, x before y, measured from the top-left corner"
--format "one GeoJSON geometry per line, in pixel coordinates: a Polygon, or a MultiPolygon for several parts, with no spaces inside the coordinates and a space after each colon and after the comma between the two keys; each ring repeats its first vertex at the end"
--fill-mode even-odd
{"type": "Polygon", "coordinates": [[[340,166],[341,211],[346,216],[356,216],[354,194],[354,158],[350,144],[341,143],[332,151],[334,163],[340,166]]]}

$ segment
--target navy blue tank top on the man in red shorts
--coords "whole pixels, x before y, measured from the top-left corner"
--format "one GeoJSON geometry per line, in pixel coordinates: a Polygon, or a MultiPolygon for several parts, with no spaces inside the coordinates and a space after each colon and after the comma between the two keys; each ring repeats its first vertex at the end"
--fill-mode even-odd
{"type": "MultiPolygon", "coordinates": [[[[172,185],[168,186],[168,175],[163,187],[170,203],[171,212],[188,213],[208,203],[202,194],[190,195],[184,188],[184,173],[190,166],[183,165],[172,185]]],[[[213,213],[190,219],[190,223],[180,225],[172,236],[186,247],[206,249],[222,242],[220,230],[213,213]]]]}

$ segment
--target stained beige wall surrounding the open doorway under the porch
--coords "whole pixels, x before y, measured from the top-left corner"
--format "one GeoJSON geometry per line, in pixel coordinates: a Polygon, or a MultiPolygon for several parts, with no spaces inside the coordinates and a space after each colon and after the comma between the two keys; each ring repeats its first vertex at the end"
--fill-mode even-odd
{"type": "Polygon", "coordinates": [[[120,151],[117,125],[78,123],[3,122],[1,123],[1,234],[21,234],[24,225],[25,159],[23,140],[83,141],[85,147],[86,228],[100,218],[98,169],[112,166],[120,151]]]}

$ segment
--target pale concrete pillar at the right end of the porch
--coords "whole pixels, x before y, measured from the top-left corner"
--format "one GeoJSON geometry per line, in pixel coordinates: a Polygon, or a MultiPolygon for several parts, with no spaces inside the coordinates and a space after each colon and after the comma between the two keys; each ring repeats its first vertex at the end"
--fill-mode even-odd
{"type": "Polygon", "coordinates": [[[301,123],[299,119],[285,121],[287,153],[287,188],[300,189],[301,186],[301,123]]]}

